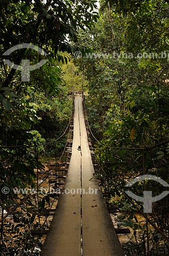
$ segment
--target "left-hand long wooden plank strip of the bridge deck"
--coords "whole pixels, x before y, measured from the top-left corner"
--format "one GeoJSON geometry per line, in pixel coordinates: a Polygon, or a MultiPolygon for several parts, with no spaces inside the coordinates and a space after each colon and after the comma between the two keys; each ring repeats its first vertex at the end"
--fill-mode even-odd
{"type": "Polygon", "coordinates": [[[68,189],[81,188],[81,155],[77,151],[80,143],[78,106],[74,112],[74,140],[67,178],[61,191],[57,209],[48,231],[41,256],[80,256],[81,206],[80,194],[68,194],[68,189]]]}

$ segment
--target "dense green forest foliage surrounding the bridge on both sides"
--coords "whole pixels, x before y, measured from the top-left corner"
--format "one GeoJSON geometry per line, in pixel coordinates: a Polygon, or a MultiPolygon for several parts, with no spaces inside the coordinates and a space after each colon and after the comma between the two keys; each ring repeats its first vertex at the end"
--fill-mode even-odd
{"type": "MultiPolygon", "coordinates": [[[[69,121],[71,91],[81,91],[82,86],[88,91],[89,120],[99,140],[95,152],[104,169],[101,182],[109,192],[108,206],[117,205],[122,212],[120,223],[133,231],[124,244],[126,255],[169,252],[168,197],[153,203],[152,213],[144,214],[143,204],[124,193],[126,182],[140,175],[169,181],[169,4],[102,0],[97,20],[96,2],[0,1],[2,218],[24,199],[19,210],[10,214],[10,221],[1,222],[1,255],[31,253],[35,239],[30,229],[39,228],[38,214],[50,199],[25,197],[13,189],[35,187],[35,170],[44,168],[40,157],[61,153],[65,141],[57,145],[55,141],[69,121]],[[47,55],[20,49],[8,56],[11,61],[20,65],[29,59],[34,65],[48,60],[31,71],[27,82],[3,61],[5,51],[24,43],[37,45],[47,55]],[[72,61],[72,54],[79,58],[72,61]],[[9,193],[3,193],[4,186],[9,193]],[[137,219],[138,212],[145,217],[144,224],[137,219]]],[[[154,181],[132,187],[139,196],[144,190],[156,196],[164,189],[154,181]]]]}

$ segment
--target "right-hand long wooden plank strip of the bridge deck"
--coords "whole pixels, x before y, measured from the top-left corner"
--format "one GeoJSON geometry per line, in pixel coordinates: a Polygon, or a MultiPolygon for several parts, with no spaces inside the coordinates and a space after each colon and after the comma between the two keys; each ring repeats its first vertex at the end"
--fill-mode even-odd
{"type": "Polygon", "coordinates": [[[82,188],[85,189],[85,194],[82,194],[82,255],[124,256],[97,180],[93,175],[94,168],[88,145],[82,102],[79,104],[79,121],[81,180],[82,188]]]}

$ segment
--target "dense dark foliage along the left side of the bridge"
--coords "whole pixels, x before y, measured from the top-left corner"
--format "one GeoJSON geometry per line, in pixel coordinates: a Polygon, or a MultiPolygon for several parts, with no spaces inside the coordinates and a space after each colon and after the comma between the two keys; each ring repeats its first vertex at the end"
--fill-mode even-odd
{"type": "MultiPolygon", "coordinates": [[[[44,170],[42,156],[60,155],[64,132],[71,113],[69,86],[63,80],[61,61],[68,63],[75,48],[79,28],[90,28],[97,20],[96,1],[3,0],[0,1],[0,255],[30,255],[36,238],[31,229],[41,225],[39,214],[49,205],[49,197],[14,193],[19,188],[35,188],[35,171],[44,170]],[[20,44],[9,56],[8,49],[20,44]],[[46,52],[47,55],[41,54],[46,52]],[[5,65],[30,60],[30,66],[47,59],[44,66],[30,72],[30,81],[21,72],[5,65]],[[7,187],[7,193],[3,190],[7,187]],[[20,205],[20,202],[23,203],[20,205]]],[[[47,223],[44,228],[47,227],[47,223]]],[[[39,246],[39,242],[37,243],[39,246]]],[[[34,251],[37,255],[39,250],[34,251]]]]}

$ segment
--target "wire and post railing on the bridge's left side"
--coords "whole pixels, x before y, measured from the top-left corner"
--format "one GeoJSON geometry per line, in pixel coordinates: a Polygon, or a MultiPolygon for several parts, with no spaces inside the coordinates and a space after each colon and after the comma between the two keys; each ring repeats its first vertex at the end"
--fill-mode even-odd
{"type": "MultiPolygon", "coordinates": [[[[7,239],[9,237],[15,246],[17,246],[18,243],[18,248],[20,247],[19,241],[24,241],[23,248],[20,248],[20,250],[26,255],[34,255],[37,253],[35,249],[40,249],[40,242],[44,240],[44,236],[47,233],[67,175],[72,141],[73,106],[69,123],[64,133],[59,138],[42,144],[0,146],[1,168],[9,168],[9,170],[12,170],[12,163],[10,159],[7,161],[5,157],[2,158],[3,155],[14,155],[15,151],[20,151],[20,155],[21,152],[24,151],[24,155],[28,155],[31,154],[30,149],[32,149],[35,152],[33,159],[35,166],[32,171],[36,175],[34,187],[21,187],[21,184],[17,185],[17,183],[14,187],[8,187],[8,180],[6,180],[4,184],[1,181],[0,247],[4,255],[6,255],[7,251],[13,250],[12,243],[10,245],[7,239]],[[65,138],[67,137],[66,146],[62,156],[58,159],[57,143],[64,136],[65,138]],[[41,155],[40,147],[46,146],[50,146],[54,158],[54,161],[50,164],[50,168],[47,170],[39,160],[41,155]]],[[[17,161],[20,161],[19,156],[17,157],[17,161]]],[[[29,166],[27,167],[29,168],[29,166]]],[[[21,165],[20,168],[22,168],[21,165]]],[[[24,172],[24,169],[19,170],[19,172],[22,171],[24,172]]],[[[2,172],[0,176],[2,176],[2,172]]],[[[18,252],[18,254],[19,253],[20,252],[18,252]]]]}

